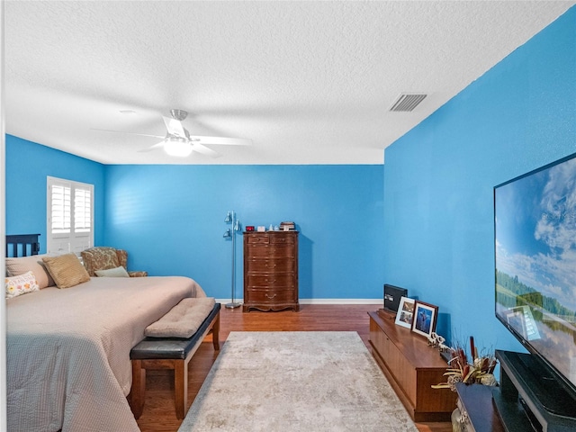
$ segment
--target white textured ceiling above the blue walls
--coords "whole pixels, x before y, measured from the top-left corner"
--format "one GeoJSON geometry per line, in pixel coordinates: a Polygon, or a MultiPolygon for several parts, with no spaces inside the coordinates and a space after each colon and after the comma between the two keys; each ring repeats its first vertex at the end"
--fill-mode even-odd
{"type": "Polygon", "coordinates": [[[382,164],[574,3],[8,0],[5,129],[107,164],[382,164]],[[404,92],[428,97],[389,112],[404,92]],[[94,130],[164,135],[173,108],[193,135],[253,145],[181,159],[94,130]]]}

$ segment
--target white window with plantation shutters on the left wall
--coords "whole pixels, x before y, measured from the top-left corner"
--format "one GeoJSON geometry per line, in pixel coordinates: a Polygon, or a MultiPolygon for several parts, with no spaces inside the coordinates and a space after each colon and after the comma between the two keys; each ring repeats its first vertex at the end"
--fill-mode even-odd
{"type": "Polygon", "coordinates": [[[78,255],[94,245],[94,184],[47,177],[47,252],[78,255]]]}

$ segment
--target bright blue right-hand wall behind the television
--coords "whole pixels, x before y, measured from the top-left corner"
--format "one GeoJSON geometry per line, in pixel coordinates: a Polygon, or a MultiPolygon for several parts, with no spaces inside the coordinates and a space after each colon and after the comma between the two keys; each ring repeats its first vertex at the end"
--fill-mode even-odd
{"type": "Polygon", "coordinates": [[[386,149],[386,281],[453,340],[521,350],[494,318],[493,186],[575,151],[572,7],[386,149]]]}

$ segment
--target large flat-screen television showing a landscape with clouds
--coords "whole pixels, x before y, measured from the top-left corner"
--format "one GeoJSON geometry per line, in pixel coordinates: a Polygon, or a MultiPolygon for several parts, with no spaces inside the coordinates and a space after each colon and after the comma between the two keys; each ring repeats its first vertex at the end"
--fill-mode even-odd
{"type": "Polygon", "coordinates": [[[576,155],[494,188],[496,317],[576,390],[576,155]]]}

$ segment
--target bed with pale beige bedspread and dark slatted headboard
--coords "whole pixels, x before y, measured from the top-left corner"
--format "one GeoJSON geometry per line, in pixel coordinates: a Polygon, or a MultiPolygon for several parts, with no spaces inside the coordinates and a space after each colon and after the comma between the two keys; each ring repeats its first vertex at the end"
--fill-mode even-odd
{"type": "MultiPolygon", "coordinates": [[[[42,257],[6,258],[6,268],[24,260],[39,272],[42,257]]],[[[40,288],[6,299],[8,430],[139,431],[127,400],[130,348],[182,299],[205,297],[202,287],[148,276],[40,288]]]]}

